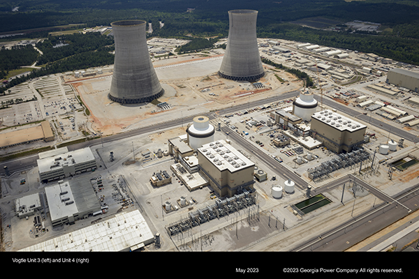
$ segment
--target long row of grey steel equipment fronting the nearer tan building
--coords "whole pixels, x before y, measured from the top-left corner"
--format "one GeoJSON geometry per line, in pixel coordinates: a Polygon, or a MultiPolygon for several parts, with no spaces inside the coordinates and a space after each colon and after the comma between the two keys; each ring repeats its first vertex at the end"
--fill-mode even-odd
{"type": "MultiPolygon", "coordinates": [[[[215,218],[220,219],[223,216],[228,216],[232,213],[240,211],[242,209],[251,209],[256,204],[256,192],[255,190],[243,189],[242,193],[228,197],[226,199],[216,199],[215,204],[208,205],[203,209],[198,209],[193,212],[189,212],[186,218],[181,218],[179,221],[170,224],[166,227],[166,230],[170,236],[175,234],[183,233],[188,229],[192,229],[202,223],[210,222],[215,218]]],[[[254,220],[258,218],[257,214],[253,211],[248,219],[254,220]],[[255,217],[256,216],[256,217],[255,217]]]]}

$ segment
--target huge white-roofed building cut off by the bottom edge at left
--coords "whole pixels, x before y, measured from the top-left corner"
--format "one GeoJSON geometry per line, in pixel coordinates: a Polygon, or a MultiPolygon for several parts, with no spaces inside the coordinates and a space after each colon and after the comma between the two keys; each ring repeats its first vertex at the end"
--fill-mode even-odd
{"type": "Polygon", "coordinates": [[[22,252],[124,252],[154,242],[154,235],[140,211],[122,212],[103,222],[48,239],[22,252]]]}

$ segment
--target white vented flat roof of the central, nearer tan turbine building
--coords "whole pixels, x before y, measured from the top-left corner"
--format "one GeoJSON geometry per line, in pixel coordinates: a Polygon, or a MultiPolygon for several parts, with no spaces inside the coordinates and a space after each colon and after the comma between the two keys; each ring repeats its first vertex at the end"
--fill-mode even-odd
{"type": "Polygon", "coordinates": [[[255,165],[225,140],[204,144],[198,149],[198,152],[220,171],[228,169],[229,172],[237,172],[240,169],[255,165]]]}

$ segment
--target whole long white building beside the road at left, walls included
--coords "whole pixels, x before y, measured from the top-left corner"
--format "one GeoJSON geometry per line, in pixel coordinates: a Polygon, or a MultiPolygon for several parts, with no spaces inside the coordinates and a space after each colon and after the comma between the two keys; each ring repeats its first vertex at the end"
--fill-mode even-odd
{"type": "Polygon", "coordinates": [[[89,147],[68,152],[67,149],[39,153],[39,177],[43,183],[97,169],[89,147]]]}

